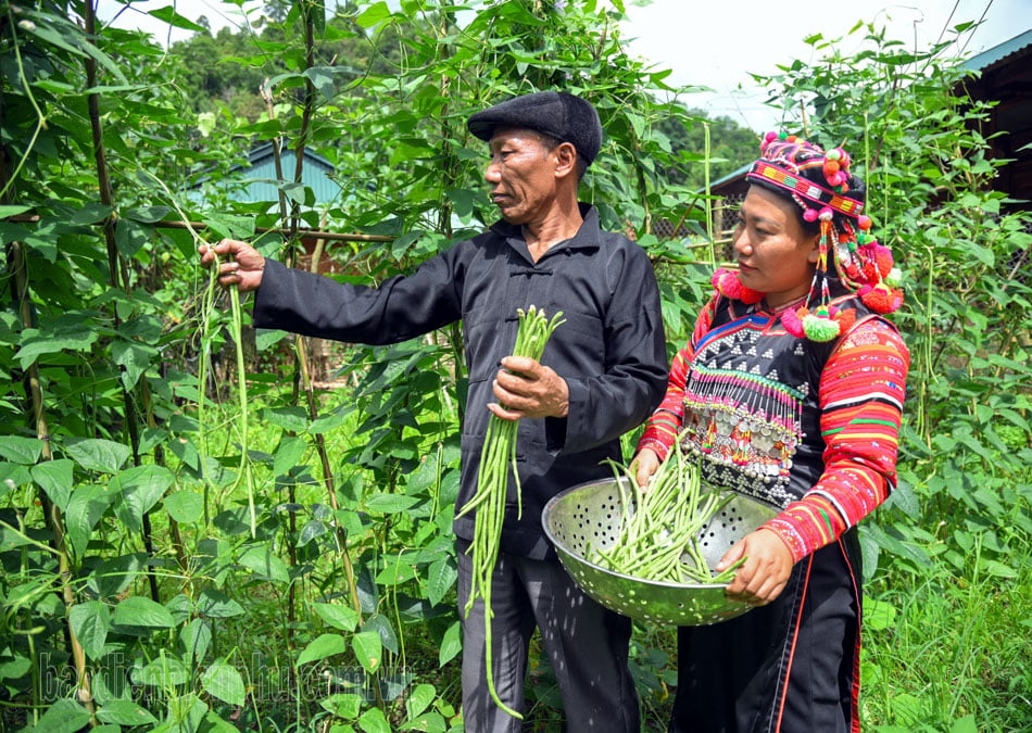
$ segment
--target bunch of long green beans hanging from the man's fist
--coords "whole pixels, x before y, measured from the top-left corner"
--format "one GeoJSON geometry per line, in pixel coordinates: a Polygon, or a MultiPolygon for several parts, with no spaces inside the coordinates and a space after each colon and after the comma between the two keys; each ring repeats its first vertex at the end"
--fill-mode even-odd
{"type": "MultiPolygon", "coordinates": [[[[563,323],[563,313],[558,312],[549,319],[544,311],[531,305],[527,311],[519,308],[519,326],[516,330],[516,345],[513,356],[528,356],[536,362],[541,361],[544,346],[552,332],[563,323]]],[[[491,672],[491,573],[498,561],[499,545],[502,540],[502,523],[505,519],[505,495],[508,492],[508,473],[512,468],[516,482],[517,515],[523,514],[520,497],[519,471],[516,470],[516,434],[519,430],[519,420],[503,420],[492,414],[488,421],[488,431],[483,439],[483,450],[480,453],[480,468],[477,473],[477,492],[462,509],[462,517],[474,509],[477,510],[477,521],[474,525],[473,544],[469,553],[473,556],[473,578],[470,579],[469,598],[466,601],[466,616],[473,610],[474,602],[479,597],[483,601],[484,627],[484,662],[488,672],[488,690],[495,704],[515,718],[523,718],[516,710],[505,705],[494,688],[494,675],[491,672]]]]}

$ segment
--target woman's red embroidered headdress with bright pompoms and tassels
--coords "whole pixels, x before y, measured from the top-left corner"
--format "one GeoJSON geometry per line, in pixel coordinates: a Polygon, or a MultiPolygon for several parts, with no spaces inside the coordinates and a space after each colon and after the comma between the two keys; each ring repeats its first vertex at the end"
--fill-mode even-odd
{"type": "MultiPolygon", "coordinates": [[[[835,274],[847,289],[876,313],[892,313],[903,303],[896,286],[892,252],[870,235],[871,219],[864,214],[866,187],[849,172],[849,154],[842,148],[825,151],[794,135],[768,132],[760,157],[745,178],[791,198],[806,222],[820,223],[817,268],[806,304],[785,312],[781,323],[796,337],[830,341],[853,325],[856,313],[830,303],[828,254],[835,274]]],[[[718,269],[714,287],[723,295],[758,303],[764,293],[742,286],[734,273],[718,269]]]]}

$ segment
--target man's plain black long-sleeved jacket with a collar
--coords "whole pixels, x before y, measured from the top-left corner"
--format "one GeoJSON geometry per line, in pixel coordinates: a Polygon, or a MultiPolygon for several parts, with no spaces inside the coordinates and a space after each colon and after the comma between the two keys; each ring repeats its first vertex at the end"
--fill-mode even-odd
{"type": "MultiPolygon", "coordinates": [[[[469,394],[457,507],[476,493],[487,404],[495,402],[491,384],[515,344],[517,308],[536,305],[549,316],[562,311],[566,320],[541,362],[569,386],[569,415],[520,420],[523,516],[517,519],[511,486],[501,546],[537,559],[554,556],[541,529],[545,503],[564,489],[612,476],[601,462],[624,458],[620,435],[640,425],[666,390],[652,264],[627,238],[601,230],[593,207],[581,204],[581,212],[577,235],[537,263],[519,227],[499,223],[377,288],[268,261],[254,303],[255,327],[352,343],[397,343],[462,320],[469,394]]],[[[455,533],[471,540],[474,521],[471,515],[455,520],[455,533]]]]}

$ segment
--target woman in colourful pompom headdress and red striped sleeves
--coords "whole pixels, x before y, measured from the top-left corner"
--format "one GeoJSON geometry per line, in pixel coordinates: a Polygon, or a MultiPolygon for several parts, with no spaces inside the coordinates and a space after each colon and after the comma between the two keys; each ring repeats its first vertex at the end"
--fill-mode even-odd
{"type": "Polygon", "coordinates": [[[737,271],[675,357],[635,456],[647,481],[675,445],[712,484],[780,509],[723,556],[756,608],[678,630],[669,730],[859,729],[856,523],[895,484],[909,355],[902,302],[842,149],[768,134],[734,232],[737,271]]]}

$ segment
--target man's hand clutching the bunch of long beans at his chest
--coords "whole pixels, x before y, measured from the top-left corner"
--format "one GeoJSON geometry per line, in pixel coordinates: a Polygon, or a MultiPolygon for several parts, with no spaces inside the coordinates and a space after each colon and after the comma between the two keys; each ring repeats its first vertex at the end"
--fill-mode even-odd
{"type": "Polygon", "coordinates": [[[488,405],[503,420],[521,417],[566,417],[569,387],[552,367],[527,356],[506,356],[494,378],[498,404],[488,405]],[[504,405],[504,407],[503,407],[504,405]]]}

